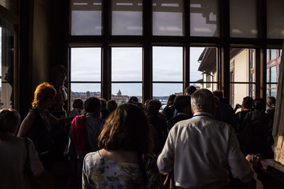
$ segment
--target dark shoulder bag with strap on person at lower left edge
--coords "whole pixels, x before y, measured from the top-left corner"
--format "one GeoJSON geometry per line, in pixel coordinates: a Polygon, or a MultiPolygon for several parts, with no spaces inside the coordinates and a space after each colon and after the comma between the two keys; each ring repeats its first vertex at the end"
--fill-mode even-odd
{"type": "Polygon", "coordinates": [[[30,161],[30,153],[29,153],[29,146],[28,146],[28,138],[23,138],[26,146],[26,163],[23,168],[23,174],[28,176],[28,180],[30,181],[31,188],[33,189],[51,189],[55,188],[55,181],[53,176],[48,171],[43,171],[40,176],[33,176],[33,172],[31,171],[31,161],[30,161]]]}

